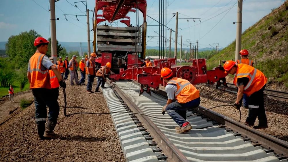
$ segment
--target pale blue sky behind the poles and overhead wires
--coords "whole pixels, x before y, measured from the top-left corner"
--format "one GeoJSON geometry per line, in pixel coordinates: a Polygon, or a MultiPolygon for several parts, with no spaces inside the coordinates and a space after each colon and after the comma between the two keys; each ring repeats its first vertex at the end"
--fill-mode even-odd
{"type": "MultiPolygon", "coordinates": [[[[86,16],[66,16],[64,14],[86,14],[86,7],[82,3],[76,3],[78,8],[74,7],[74,2],[79,0],[59,0],[55,4],[56,9],[56,34],[58,41],[65,42],[85,42],[87,41],[86,16]],[[83,13],[84,12],[84,13],[83,13]]],[[[242,14],[242,32],[249,26],[255,24],[262,17],[271,12],[271,9],[279,7],[284,0],[245,0],[243,2],[242,14]]],[[[226,47],[236,38],[237,21],[237,0],[167,0],[167,22],[173,17],[172,13],[179,12],[178,35],[183,35],[183,47],[188,43],[196,44],[199,40],[199,48],[226,47]],[[235,7],[233,7],[235,6],[235,7]],[[200,18],[187,19],[185,18],[200,18]]],[[[87,8],[93,10],[94,0],[87,0],[87,8]]],[[[7,41],[11,35],[18,35],[20,32],[34,29],[43,37],[50,37],[50,7],[49,0],[1,0],[0,1],[0,41],[7,41]],[[38,3],[38,4],[36,4],[38,3]]],[[[159,0],[147,0],[147,14],[152,18],[159,20],[159,0]]],[[[90,29],[92,29],[92,12],[90,12],[90,29]]],[[[99,12],[98,14],[101,14],[99,12]]],[[[129,13],[131,24],[136,24],[135,13],[129,13]]],[[[119,21],[119,20],[118,20],[119,21]]],[[[116,21],[112,26],[121,27],[124,24],[116,21]]],[[[175,30],[175,17],[167,24],[169,28],[175,30]]],[[[140,20],[141,22],[141,20],[140,20]]],[[[104,22],[105,23],[105,22],[104,22]]],[[[104,24],[101,23],[101,24],[104,24]]],[[[158,25],[158,23],[147,17],[148,25],[158,25]]],[[[158,26],[147,27],[147,45],[159,46],[158,26]]],[[[167,31],[167,39],[169,38],[167,31]]],[[[93,32],[90,32],[92,39],[93,32]]],[[[172,32],[172,39],[175,39],[175,33],[172,32]]],[[[180,37],[178,37],[180,42],[180,37]]],[[[167,47],[169,42],[167,42],[167,47]]],[[[172,47],[174,47],[172,43],[172,47]]],[[[179,48],[179,45],[178,45],[179,48]]],[[[245,48],[245,47],[242,47],[245,48]]]]}

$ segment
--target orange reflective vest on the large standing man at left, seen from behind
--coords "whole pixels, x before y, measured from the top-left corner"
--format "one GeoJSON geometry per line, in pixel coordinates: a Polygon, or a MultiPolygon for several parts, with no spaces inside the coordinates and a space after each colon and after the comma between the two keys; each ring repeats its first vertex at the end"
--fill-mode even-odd
{"type": "Polygon", "coordinates": [[[51,89],[49,70],[41,70],[41,62],[45,55],[35,53],[29,60],[31,83],[30,88],[47,88],[51,89]]]}

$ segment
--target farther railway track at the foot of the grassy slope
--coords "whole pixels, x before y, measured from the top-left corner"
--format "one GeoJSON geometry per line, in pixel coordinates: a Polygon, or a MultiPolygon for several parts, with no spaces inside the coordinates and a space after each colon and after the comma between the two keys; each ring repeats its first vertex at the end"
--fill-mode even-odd
{"type": "MultiPolygon", "coordinates": [[[[203,83],[203,84],[208,87],[216,88],[215,84],[207,84],[207,83],[203,83]]],[[[227,85],[228,87],[221,85],[220,87],[218,87],[218,89],[231,92],[231,93],[235,93],[235,94],[237,93],[236,86],[233,83],[227,83],[227,85]]],[[[265,89],[264,96],[268,98],[272,98],[274,100],[288,102],[288,92],[276,91],[273,89],[265,89]]]]}

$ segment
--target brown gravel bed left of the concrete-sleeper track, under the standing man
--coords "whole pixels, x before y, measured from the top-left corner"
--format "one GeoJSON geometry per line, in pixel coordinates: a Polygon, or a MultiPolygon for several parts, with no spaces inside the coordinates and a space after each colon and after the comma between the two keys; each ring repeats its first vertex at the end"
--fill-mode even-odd
{"type": "MultiPolygon", "coordinates": [[[[86,85],[71,86],[67,82],[67,114],[109,112],[102,93],[87,94],[86,85]]],[[[96,79],[92,90],[95,86],[96,79]]],[[[32,104],[0,126],[1,161],[125,161],[109,114],[65,117],[62,89],[58,102],[60,114],[54,132],[61,138],[37,140],[32,104]]]]}

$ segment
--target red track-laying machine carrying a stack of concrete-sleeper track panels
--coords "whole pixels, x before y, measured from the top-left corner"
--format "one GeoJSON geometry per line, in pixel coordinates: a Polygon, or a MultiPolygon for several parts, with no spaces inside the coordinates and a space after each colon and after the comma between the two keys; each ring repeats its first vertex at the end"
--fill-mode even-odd
{"type": "Polygon", "coordinates": [[[95,61],[98,66],[111,62],[112,70],[115,71],[109,74],[111,81],[138,81],[141,84],[140,95],[144,91],[151,95],[150,87],[158,89],[159,85],[165,86],[160,71],[163,67],[168,67],[172,69],[174,77],[186,79],[194,85],[215,82],[217,87],[221,84],[226,85],[227,74],[224,73],[223,67],[207,70],[205,59],[194,59],[191,66],[176,65],[175,58],[155,59],[154,66],[141,67],[146,49],[146,7],[145,0],[96,0],[95,11],[97,13],[98,10],[102,10],[103,14],[95,14],[94,31],[97,32],[94,32],[93,49],[96,53],[97,41],[97,53],[101,53],[101,57],[95,61]],[[126,15],[128,12],[136,12],[136,9],[143,13],[143,24],[133,27],[130,25],[130,17],[126,15]],[[99,22],[113,22],[119,19],[123,19],[120,22],[127,27],[97,26],[99,22]]]}

